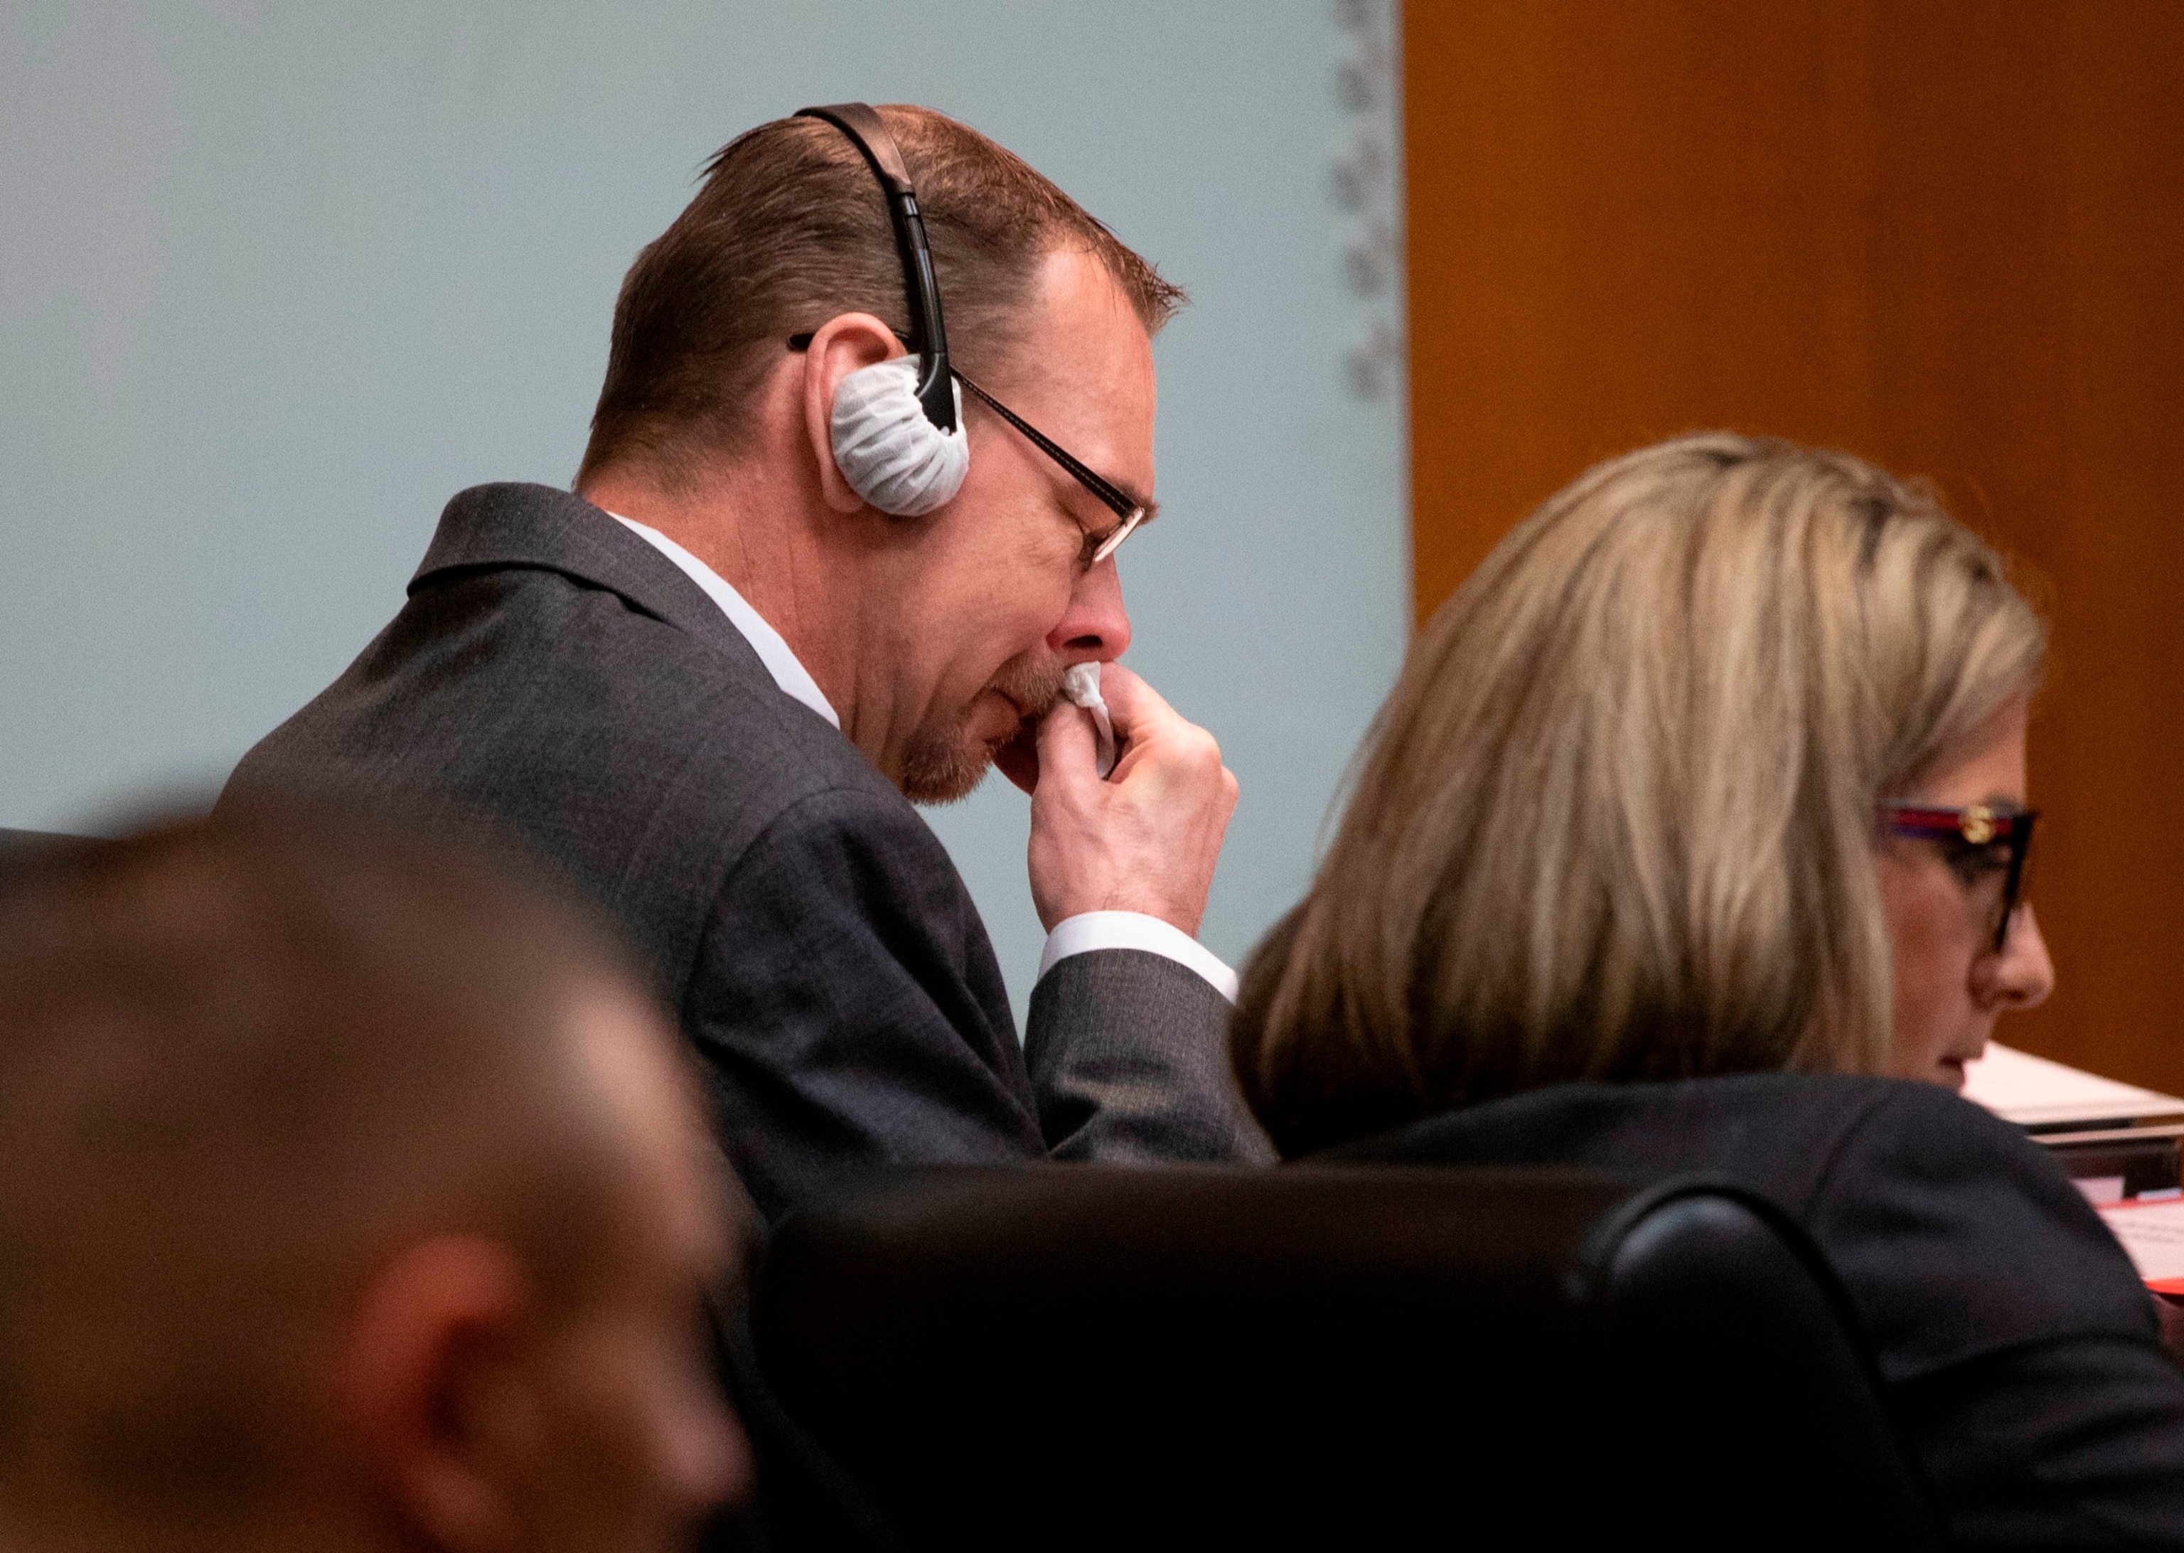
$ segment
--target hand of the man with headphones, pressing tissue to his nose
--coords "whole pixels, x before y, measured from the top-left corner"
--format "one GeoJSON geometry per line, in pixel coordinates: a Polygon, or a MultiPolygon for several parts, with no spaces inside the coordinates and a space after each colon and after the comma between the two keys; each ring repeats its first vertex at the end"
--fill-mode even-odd
{"type": "Polygon", "coordinates": [[[1051,933],[1083,911],[1142,911],[1197,935],[1236,808],[1236,773],[1221,764],[1212,734],[1120,664],[1101,666],[1101,697],[1125,745],[1105,782],[1090,712],[1055,701],[1040,723],[1031,789],[1040,924],[1051,933]]]}

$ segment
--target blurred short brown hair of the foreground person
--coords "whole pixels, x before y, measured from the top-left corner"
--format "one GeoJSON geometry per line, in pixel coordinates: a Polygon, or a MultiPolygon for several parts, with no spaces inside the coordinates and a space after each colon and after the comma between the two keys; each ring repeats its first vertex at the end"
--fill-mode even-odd
{"type": "Polygon", "coordinates": [[[0,1520],[249,1514],[402,1236],[585,1287],[587,985],[609,930],[470,837],[223,808],[0,872],[0,1520]]]}

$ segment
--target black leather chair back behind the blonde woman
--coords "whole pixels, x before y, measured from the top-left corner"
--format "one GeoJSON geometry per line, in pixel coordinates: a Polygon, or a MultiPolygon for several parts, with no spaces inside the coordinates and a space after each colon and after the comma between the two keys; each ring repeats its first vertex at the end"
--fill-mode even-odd
{"type": "Polygon", "coordinates": [[[782,1546],[1926,1546],[1795,1225],[1586,1171],[950,1169],[775,1234],[782,1546]]]}

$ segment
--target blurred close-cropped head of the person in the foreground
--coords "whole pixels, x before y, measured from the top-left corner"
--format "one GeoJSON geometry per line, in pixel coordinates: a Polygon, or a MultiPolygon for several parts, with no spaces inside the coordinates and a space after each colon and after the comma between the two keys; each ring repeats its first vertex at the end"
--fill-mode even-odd
{"type": "Polygon", "coordinates": [[[221,813],[0,893],[0,1544],[666,1549],[736,1223],[612,944],[221,813]]]}

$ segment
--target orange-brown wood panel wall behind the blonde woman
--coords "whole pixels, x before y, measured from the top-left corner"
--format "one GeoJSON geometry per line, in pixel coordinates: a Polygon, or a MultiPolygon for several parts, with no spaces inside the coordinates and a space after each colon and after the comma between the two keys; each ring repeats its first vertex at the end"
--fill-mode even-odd
{"type": "Polygon", "coordinates": [[[2184,1092],[2184,4],[1409,0],[1420,618],[1701,426],[1935,481],[2055,627],[2003,1038],[2184,1092]]]}

